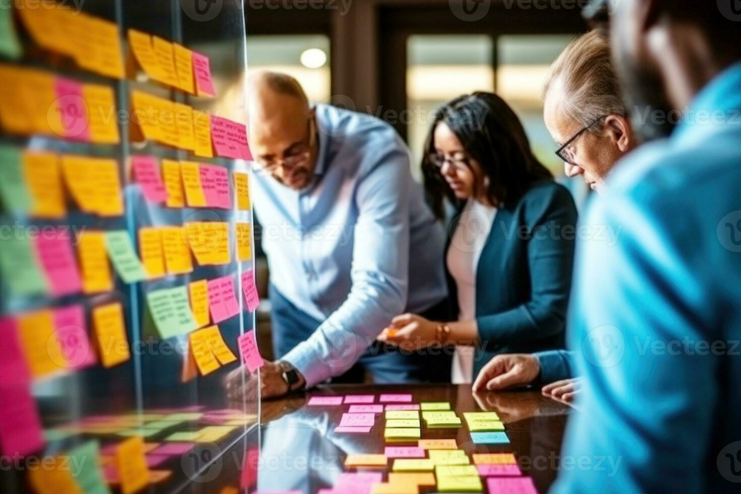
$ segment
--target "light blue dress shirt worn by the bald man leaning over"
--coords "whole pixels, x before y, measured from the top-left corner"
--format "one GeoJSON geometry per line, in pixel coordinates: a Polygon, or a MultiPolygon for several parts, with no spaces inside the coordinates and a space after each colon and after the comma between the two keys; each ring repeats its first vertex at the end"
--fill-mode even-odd
{"type": "Polygon", "coordinates": [[[448,296],[445,230],[393,127],[319,104],[316,176],[305,190],[253,175],[270,282],[325,323],[282,360],[308,387],[353,366],[391,318],[448,296]]]}

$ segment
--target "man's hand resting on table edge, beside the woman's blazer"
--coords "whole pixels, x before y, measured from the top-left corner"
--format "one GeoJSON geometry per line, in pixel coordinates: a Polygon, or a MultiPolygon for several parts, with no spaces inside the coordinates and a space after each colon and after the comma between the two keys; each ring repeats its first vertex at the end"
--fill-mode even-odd
{"type": "Polygon", "coordinates": [[[474,391],[496,391],[531,384],[540,374],[540,361],[527,353],[498,355],[489,361],[473,383],[474,391]]]}

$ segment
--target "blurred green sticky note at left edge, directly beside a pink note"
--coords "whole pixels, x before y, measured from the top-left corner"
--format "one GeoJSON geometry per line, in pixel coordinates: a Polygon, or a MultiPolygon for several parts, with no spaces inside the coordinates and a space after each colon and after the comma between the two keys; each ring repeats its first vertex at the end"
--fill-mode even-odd
{"type": "Polygon", "coordinates": [[[36,250],[23,230],[0,236],[0,273],[10,293],[34,296],[47,293],[36,250]]]}

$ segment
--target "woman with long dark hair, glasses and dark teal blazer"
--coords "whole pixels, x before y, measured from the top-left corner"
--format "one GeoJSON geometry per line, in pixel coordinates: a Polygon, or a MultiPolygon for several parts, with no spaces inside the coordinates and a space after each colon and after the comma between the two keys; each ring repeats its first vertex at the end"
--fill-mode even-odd
{"type": "Polygon", "coordinates": [[[422,161],[425,188],[442,219],[456,210],[445,257],[456,321],[414,314],[379,339],[403,350],[456,345],[453,382],[470,383],[499,353],[564,347],[576,207],[533,155],[508,104],[473,93],[436,115],[422,161]]]}

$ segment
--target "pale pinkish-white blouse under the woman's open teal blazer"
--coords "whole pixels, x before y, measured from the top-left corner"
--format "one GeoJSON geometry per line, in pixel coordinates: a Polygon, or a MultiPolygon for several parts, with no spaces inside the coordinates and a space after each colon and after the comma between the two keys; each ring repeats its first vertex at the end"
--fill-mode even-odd
{"type": "MultiPolygon", "coordinates": [[[[459,321],[476,319],[476,271],[495,216],[496,207],[469,199],[453,233],[446,263],[458,289],[459,321]]],[[[456,347],[451,382],[471,384],[472,380],[473,347],[456,347]]]]}

